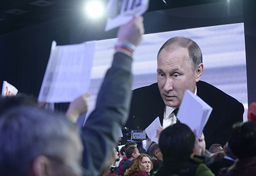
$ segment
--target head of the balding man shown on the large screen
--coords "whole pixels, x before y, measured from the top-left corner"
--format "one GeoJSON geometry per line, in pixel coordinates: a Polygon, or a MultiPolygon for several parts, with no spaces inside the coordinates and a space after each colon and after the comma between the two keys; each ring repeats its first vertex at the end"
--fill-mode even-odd
{"type": "Polygon", "coordinates": [[[173,37],[157,54],[157,82],[166,106],[179,107],[186,90],[195,92],[203,73],[200,47],[189,38],[173,37]]]}

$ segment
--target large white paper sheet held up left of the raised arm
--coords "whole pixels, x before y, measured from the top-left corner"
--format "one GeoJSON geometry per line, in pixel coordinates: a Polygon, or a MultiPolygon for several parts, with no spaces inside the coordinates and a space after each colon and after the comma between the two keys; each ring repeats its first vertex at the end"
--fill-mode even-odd
{"type": "Polygon", "coordinates": [[[71,102],[90,85],[95,42],[57,46],[53,41],[38,102],[71,102]]]}

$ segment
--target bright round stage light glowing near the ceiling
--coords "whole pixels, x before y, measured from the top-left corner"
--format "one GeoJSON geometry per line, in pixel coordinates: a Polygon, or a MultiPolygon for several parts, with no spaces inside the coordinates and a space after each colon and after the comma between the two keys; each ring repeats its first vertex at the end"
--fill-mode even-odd
{"type": "Polygon", "coordinates": [[[86,14],[92,18],[99,18],[104,14],[104,7],[99,1],[89,1],[86,4],[86,14]]]}

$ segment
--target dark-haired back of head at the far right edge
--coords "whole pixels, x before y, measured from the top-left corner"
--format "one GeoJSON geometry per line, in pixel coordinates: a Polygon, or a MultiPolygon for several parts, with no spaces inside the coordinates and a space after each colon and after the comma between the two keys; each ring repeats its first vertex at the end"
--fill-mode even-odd
{"type": "Polygon", "coordinates": [[[235,123],[231,130],[229,146],[238,158],[256,156],[256,122],[235,123]]]}

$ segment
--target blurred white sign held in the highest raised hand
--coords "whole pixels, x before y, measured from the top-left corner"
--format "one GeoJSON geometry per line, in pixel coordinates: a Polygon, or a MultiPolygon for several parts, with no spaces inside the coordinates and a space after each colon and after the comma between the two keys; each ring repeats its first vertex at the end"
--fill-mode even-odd
{"type": "Polygon", "coordinates": [[[149,8],[149,0],[110,0],[107,5],[105,31],[125,25],[133,16],[139,17],[149,8]]]}

